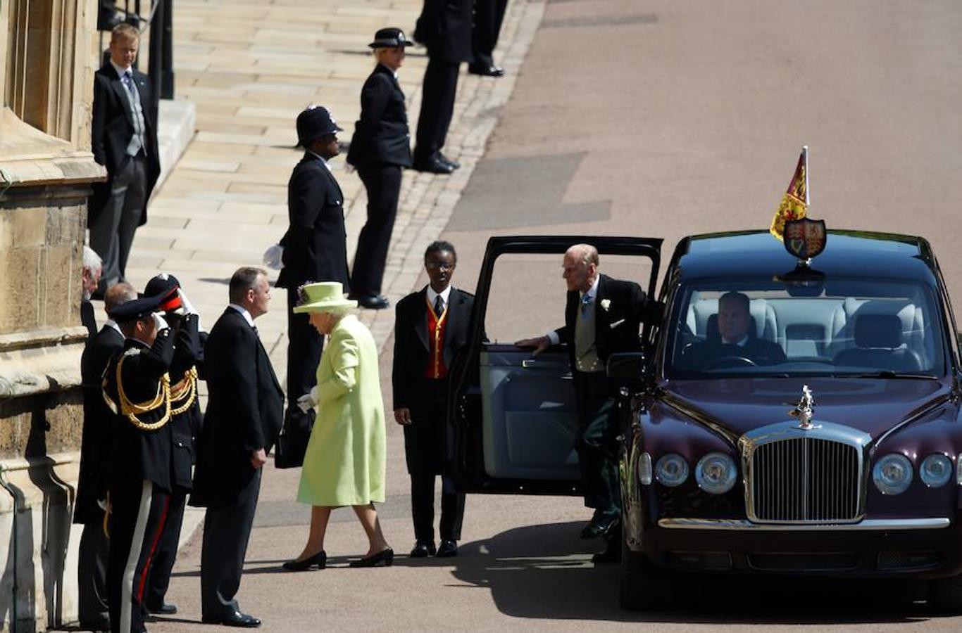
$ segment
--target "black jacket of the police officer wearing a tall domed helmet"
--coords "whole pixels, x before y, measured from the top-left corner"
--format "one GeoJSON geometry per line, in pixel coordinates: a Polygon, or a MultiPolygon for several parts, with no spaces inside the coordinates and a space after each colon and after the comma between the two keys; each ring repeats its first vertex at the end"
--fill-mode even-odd
{"type": "Polygon", "coordinates": [[[320,158],[305,154],[288,183],[291,226],[281,238],[284,268],[281,288],[308,281],[341,281],[348,288],[344,197],[334,175],[320,158]]]}

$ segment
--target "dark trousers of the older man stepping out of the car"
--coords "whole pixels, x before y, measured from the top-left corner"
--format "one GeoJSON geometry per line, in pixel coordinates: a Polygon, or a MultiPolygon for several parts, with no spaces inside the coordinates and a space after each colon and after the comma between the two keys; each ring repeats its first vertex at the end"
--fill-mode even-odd
{"type": "Polygon", "coordinates": [[[578,452],[585,505],[607,515],[621,511],[616,436],[612,416],[614,391],[603,372],[573,372],[575,400],[580,422],[574,448],[578,452]]]}

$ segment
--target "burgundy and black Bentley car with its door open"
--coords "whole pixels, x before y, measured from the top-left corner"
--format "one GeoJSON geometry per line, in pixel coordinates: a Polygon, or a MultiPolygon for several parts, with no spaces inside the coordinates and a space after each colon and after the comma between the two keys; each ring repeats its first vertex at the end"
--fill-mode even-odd
{"type": "MultiPolygon", "coordinates": [[[[567,354],[510,342],[561,325],[561,254],[578,242],[655,289],[661,240],[491,239],[452,368],[468,492],[578,492],[567,354]],[[525,300],[542,295],[557,301],[525,300]]],[[[608,364],[623,384],[621,604],[656,609],[672,576],[733,573],[912,578],[962,609],[962,365],[928,243],[828,231],[802,261],[767,231],[691,236],[658,300],[645,352],[608,364]],[[749,312],[741,347],[721,340],[733,302],[749,312]]]]}

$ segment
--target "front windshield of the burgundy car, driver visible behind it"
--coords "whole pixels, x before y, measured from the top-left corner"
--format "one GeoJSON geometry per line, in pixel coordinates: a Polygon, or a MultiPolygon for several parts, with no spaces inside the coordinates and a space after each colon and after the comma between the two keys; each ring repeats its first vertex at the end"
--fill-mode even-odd
{"type": "Polygon", "coordinates": [[[941,314],[904,280],[696,280],[675,294],[666,375],[941,377],[941,314]]]}

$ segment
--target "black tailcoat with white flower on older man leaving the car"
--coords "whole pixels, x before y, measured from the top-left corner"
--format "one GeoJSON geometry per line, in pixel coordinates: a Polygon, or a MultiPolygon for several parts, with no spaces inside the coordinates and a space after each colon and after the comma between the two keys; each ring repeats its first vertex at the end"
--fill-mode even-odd
{"type": "MultiPolygon", "coordinates": [[[[568,344],[571,367],[574,368],[574,328],[581,305],[576,290],[568,293],[565,305],[565,327],[555,330],[568,344]]],[[[649,302],[645,291],[634,281],[613,280],[601,275],[595,294],[595,349],[602,364],[618,352],[640,352],[639,333],[643,322],[655,318],[657,304],[649,302]]]]}

